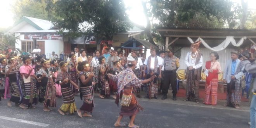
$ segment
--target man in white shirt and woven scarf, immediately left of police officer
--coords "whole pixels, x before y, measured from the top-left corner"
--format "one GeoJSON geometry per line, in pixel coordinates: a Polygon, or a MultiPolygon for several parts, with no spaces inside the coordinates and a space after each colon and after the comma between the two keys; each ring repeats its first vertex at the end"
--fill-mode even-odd
{"type": "MultiPolygon", "coordinates": [[[[151,55],[145,59],[144,64],[146,65],[144,67],[144,71],[147,68],[147,76],[145,73],[143,74],[144,78],[150,78],[154,74],[159,74],[159,79],[162,78],[162,58],[156,55],[156,49],[151,48],[150,49],[151,55]],[[146,76],[146,77],[145,77],[146,76]]],[[[148,86],[146,86],[146,93],[147,96],[145,98],[151,99],[151,97],[154,97],[155,99],[158,99],[157,93],[158,93],[158,83],[157,78],[154,79],[154,81],[150,82],[148,86]]]]}

